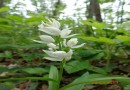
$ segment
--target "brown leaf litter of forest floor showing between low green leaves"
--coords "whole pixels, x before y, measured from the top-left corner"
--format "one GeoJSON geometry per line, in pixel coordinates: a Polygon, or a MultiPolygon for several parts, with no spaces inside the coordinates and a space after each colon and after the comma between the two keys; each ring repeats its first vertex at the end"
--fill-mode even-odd
{"type": "MultiPolygon", "coordinates": [[[[39,63],[39,61],[36,59],[31,63],[31,65],[37,66],[38,63],[39,63]]],[[[50,64],[50,63],[51,63],[50,61],[46,61],[46,64],[50,64]]],[[[124,62],[121,62],[120,60],[114,60],[111,63],[118,66],[118,68],[112,70],[109,74],[130,77],[130,62],[124,63],[124,62]]],[[[3,59],[0,61],[0,66],[4,66],[4,67],[8,67],[8,68],[11,68],[14,66],[23,66],[24,67],[24,66],[28,66],[28,62],[21,60],[21,61],[18,61],[16,64],[16,60],[3,59]]],[[[63,75],[62,81],[61,81],[61,86],[69,84],[76,77],[78,77],[78,75],[79,75],[79,72],[74,73],[74,74],[67,74],[65,72],[63,75]]],[[[10,78],[16,77],[16,75],[14,73],[9,73],[9,72],[0,73],[0,78],[9,78],[9,77],[10,78]]],[[[14,90],[29,90],[28,88],[29,88],[30,83],[32,83],[31,80],[21,82],[16,85],[16,88],[14,90]]],[[[47,82],[38,81],[38,85],[35,87],[34,90],[48,90],[47,82]]],[[[117,80],[113,80],[112,83],[108,83],[108,84],[104,84],[101,82],[95,82],[91,85],[85,85],[82,90],[124,90],[124,89],[117,80]]]]}

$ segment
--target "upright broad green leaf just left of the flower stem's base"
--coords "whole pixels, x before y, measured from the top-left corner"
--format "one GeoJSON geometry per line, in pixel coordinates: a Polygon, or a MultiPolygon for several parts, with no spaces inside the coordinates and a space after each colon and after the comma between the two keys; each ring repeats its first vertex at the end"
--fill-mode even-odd
{"type": "Polygon", "coordinates": [[[51,66],[49,72],[49,78],[55,81],[49,81],[49,90],[58,90],[58,69],[55,66],[51,66]]]}

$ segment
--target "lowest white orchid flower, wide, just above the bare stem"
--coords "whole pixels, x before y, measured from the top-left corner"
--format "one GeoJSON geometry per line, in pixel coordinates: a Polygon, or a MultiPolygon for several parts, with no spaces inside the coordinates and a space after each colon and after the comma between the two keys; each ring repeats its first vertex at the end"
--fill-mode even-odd
{"type": "Polygon", "coordinates": [[[70,50],[68,53],[65,51],[49,51],[49,50],[43,50],[46,54],[48,54],[50,57],[44,57],[45,59],[51,60],[51,61],[62,61],[70,60],[72,55],[72,50],[70,50]]]}

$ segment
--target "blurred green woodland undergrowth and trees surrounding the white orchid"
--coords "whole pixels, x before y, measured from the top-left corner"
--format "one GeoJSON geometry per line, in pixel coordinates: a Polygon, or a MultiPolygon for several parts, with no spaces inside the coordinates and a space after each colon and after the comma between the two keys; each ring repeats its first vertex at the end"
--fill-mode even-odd
{"type": "Polygon", "coordinates": [[[65,0],[30,0],[32,10],[14,1],[0,0],[0,90],[130,90],[129,0],[75,0],[72,16],[65,0]],[[33,41],[51,18],[86,43],[66,61],[59,89],[60,62],[44,59],[47,46],[33,41]]]}

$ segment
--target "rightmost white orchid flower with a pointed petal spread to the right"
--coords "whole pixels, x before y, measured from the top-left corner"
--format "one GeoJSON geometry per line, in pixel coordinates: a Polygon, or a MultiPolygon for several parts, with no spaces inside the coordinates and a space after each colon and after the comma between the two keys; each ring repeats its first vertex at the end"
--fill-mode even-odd
{"type": "Polygon", "coordinates": [[[63,42],[64,46],[68,46],[68,47],[71,47],[71,48],[79,48],[79,47],[82,47],[85,45],[85,43],[82,43],[80,45],[77,45],[78,43],[78,39],[77,38],[71,38],[68,42],[67,42],[67,45],[66,45],[66,41],[63,42]]]}

